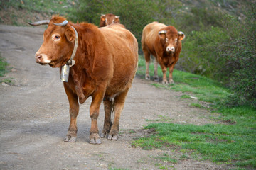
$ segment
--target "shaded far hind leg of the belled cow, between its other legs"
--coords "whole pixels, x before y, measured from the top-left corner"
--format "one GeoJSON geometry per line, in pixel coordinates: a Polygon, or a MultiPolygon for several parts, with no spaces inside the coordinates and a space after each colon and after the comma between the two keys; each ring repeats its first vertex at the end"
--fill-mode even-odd
{"type": "Polygon", "coordinates": [[[102,134],[100,137],[108,137],[110,133],[110,128],[111,128],[111,113],[113,109],[113,100],[112,98],[104,98],[103,100],[104,103],[104,111],[105,111],[105,120],[104,120],[104,126],[102,130],[102,134]]]}

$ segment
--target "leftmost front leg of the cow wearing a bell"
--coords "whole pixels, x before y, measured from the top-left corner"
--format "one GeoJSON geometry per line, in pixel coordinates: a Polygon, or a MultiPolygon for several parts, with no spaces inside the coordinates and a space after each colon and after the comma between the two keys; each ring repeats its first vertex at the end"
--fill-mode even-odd
{"type": "Polygon", "coordinates": [[[78,96],[73,93],[71,89],[68,88],[66,83],[64,83],[65,92],[68,96],[68,101],[70,104],[70,126],[68,128],[68,134],[66,135],[65,142],[75,142],[77,138],[77,116],[79,112],[78,96]]]}

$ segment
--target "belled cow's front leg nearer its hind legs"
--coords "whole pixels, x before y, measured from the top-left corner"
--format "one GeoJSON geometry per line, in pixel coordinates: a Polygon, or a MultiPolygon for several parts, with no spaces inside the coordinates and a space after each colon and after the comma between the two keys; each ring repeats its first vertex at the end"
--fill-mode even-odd
{"type": "Polygon", "coordinates": [[[104,92],[100,91],[92,96],[92,103],[90,105],[90,118],[92,120],[90,128],[90,144],[100,144],[100,135],[97,127],[97,118],[100,111],[100,103],[102,102],[104,92]]]}

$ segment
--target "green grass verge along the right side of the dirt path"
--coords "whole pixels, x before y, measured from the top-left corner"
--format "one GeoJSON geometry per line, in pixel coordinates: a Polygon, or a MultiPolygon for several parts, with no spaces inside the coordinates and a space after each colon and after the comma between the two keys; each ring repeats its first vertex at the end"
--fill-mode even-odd
{"type": "MultiPolygon", "coordinates": [[[[149,68],[152,76],[153,64],[150,64],[149,68]]],[[[139,57],[137,74],[144,75],[144,71],[144,59],[139,57]]],[[[161,76],[159,68],[159,77],[161,76]]],[[[215,163],[231,164],[242,169],[256,169],[256,110],[250,106],[225,108],[220,103],[227,99],[230,91],[217,81],[178,70],[174,70],[173,76],[175,84],[153,83],[152,85],[183,91],[185,94],[181,98],[184,100],[196,96],[198,100],[212,103],[211,111],[220,113],[214,119],[221,123],[191,125],[151,121],[146,129],[154,128],[156,132],[149,137],[135,140],[132,145],[142,147],[142,149],[185,151],[180,159],[186,159],[190,154],[193,159],[207,159],[215,163]]],[[[191,103],[190,106],[203,108],[198,103],[191,103]]]]}

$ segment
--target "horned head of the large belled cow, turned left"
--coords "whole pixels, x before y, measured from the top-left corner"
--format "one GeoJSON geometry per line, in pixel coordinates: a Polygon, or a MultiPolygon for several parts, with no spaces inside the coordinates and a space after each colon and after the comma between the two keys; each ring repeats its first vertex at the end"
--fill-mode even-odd
{"type": "Polygon", "coordinates": [[[35,54],[36,62],[61,67],[69,59],[75,43],[75,30],[68,21],[60,16],[53,16],[50,21],[30,23],[32,26],[48,24],[43,33],[43,44],[35,54]]]}

